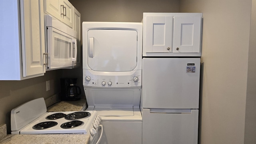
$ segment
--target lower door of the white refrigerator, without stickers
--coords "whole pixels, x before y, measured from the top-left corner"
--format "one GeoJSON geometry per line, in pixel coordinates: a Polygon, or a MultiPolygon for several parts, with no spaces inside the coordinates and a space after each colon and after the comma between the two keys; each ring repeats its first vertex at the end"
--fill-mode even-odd
{"type": "Polygon", "coordinates": [[[142,144],[198,144],[198,110],[156,113],[142,110],[142,144]]]}

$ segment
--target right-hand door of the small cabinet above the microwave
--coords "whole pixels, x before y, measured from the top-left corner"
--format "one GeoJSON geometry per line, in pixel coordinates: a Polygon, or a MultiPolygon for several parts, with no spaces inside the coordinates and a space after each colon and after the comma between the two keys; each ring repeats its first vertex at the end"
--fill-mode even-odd
{"type": "Polygon", "coordinates": [[[73,28],[73,5],[68,0],[63,0],[64,15],[62,15],[62,22],[73,28]]]}

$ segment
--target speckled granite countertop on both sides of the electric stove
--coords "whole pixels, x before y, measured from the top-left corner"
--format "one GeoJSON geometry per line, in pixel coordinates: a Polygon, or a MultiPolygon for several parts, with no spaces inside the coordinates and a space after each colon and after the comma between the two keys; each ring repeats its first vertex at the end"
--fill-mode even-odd
{"type": "MultiPolygon", "coordinates": [[[[48,112],[79,111],[85,99],[61,101],[47,108],[48,112]]],[[[6,124],[0,125],[0,144],[88,144],[90,134],[8,134],[6,124]]]]}

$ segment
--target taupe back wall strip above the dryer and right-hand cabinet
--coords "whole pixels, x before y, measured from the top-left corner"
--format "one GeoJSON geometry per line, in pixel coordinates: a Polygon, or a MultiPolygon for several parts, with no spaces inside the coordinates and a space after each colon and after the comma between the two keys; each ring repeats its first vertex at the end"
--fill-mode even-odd
{"type": "Polygon", "coordinates": [[[143,12],[179,12],[180,0],[69,0],[81,21],[141,22],[143,12]]]}

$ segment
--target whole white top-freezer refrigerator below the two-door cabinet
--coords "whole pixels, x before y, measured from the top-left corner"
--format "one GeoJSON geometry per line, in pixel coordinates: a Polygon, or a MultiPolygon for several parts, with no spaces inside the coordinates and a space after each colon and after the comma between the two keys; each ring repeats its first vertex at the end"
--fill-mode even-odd
{"type": "Polygon", "coordinates": [[[197,144],[200,58],[142,59],[142,143],[197,144]]]}

